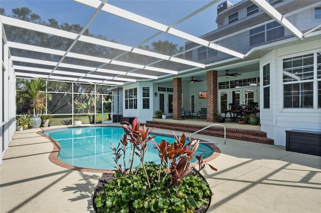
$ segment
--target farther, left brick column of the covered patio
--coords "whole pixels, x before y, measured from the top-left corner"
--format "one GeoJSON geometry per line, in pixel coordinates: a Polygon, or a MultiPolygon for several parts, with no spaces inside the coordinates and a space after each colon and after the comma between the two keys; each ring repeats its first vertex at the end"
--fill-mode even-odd
{"type": "Polygon", "coordinates": [[[173,119],[182,119],[182,78],[173,78],[173,119]]]}

